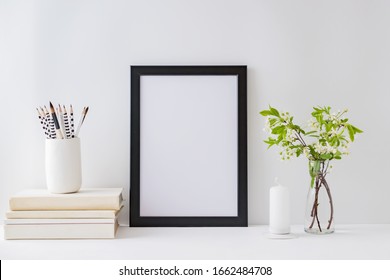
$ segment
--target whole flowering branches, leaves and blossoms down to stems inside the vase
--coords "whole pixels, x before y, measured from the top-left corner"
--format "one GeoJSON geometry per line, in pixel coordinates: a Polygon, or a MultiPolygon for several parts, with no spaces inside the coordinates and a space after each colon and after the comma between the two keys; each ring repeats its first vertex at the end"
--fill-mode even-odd
{"type": "Polygon", "coordinates": [[[309,173],[311,176],[311,188],[314,188],[314,201],[310,211],[308,230],[312,230],[317,224],[318,230],[323,231],[318,211],[319,192],[325,188],[330,206],[330,216],[326,230],[331,228],[333,222],[333,199],[329,185],[325,179],[328,173],[329,163],[333,159],[341,159],[349,154],[349,144],[354,141],[357,133],[363,131],[353,126],[344,117],[347,110],[332,113],[330,107],[313,107],[312,118],[309,121],[309,130],[302,129],[295,124],[293,117],[288,112],[280,113],[269,106],[268,110],[260,114],[266,117],[265,131],[270,136],[264,142],[268,148],[279,146],[282,160],[305,155],[309,159],[309,173]],[[313,141],[308,142],[307,138],[313,141]]]}

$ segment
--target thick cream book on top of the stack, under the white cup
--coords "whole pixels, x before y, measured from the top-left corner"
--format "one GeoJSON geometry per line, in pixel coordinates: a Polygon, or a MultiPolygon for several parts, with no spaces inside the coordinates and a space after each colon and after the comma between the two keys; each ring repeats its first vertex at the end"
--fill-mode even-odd
{"type": "Polygon", "coordinates": [[[9,200],[10,210],[119,210],[122,188],[81,188],[70,194],[53,194],[47,189],[21,191],[9,200]]]}

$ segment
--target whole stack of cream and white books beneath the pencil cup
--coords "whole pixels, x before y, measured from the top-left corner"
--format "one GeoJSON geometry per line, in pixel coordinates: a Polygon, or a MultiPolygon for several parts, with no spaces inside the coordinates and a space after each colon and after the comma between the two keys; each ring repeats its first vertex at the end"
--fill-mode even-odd
{"type": "Polygon", "coordinates": [[[24,190],[9,200],[4,238],[115,238],[122,192],[122,188],[81,188],[72,194],[24,190]]]}

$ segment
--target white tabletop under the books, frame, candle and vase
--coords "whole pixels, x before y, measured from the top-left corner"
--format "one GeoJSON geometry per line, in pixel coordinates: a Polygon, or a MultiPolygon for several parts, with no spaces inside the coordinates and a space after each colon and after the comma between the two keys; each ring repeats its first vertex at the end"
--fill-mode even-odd
{"type": "MultiPolygon", "coordinates": [[[[1,226],[2,227],[2,226],[1,226]]],[[[119,228],[115,239],[4,240],[0,259],[68,260],[389,260],[390,224],[336,225],[329,235],[292,226],[291,239],[271,239],[268,226],[119,228]]]]}

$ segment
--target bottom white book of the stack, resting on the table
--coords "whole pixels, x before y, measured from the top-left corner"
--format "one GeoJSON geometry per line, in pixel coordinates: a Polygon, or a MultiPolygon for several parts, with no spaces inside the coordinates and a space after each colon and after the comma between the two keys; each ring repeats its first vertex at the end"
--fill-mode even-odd
{"type": "Polygon", "coordinates": [[[5,239],[100,239],[115,238],[114,224],[4,225],[5,239]]]}

